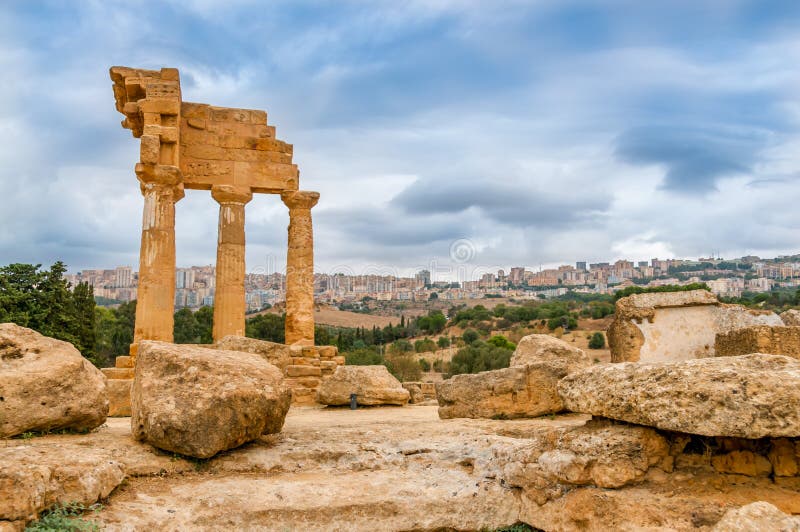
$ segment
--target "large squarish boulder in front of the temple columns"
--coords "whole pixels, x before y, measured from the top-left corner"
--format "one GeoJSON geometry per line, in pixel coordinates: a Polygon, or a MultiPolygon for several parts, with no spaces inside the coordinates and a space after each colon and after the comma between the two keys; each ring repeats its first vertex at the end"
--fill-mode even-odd
{"type": "Polygon", "coordinates": [[[279,432],[290,403],[281,371],[259,355],[139,344],[131,432],[159,449],[209,458],[279,432]]]}

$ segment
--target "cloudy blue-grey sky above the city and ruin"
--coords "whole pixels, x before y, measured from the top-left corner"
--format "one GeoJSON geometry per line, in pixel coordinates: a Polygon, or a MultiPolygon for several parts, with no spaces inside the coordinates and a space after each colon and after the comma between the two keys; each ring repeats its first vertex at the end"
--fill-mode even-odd
{"type": "MultiPolygon", "coordinates": [[[[111,65],[266,109],[322,194],[318,271],[800,252],[796,0],[12,0],[0,28],[0,264],[136,265],[111,65]]],[[[281,270],[286,208],[247,217],[248,269],[281,270]]],[[[179,265],[216,224],[188,191],[179,265]]]]}

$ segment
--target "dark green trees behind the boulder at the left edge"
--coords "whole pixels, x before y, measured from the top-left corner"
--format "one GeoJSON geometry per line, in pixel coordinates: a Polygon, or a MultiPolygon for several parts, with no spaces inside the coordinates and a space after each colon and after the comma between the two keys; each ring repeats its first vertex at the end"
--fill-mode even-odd
{"type": "Polygon", "coordinates": [[[59,261],[49,270],[41,264],[0,267],[0,322],[13,322],[45,336],[73,344],[94,363],[95,302],[92,287],[70,290],[67,267],[59,261]]]}

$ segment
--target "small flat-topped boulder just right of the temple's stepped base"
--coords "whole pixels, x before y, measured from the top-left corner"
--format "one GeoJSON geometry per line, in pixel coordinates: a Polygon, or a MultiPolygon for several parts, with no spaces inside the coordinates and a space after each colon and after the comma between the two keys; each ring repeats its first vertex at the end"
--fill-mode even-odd
{"type": "Polygon", "coordinates": [[[402,406],[411,397],[386,366],[339,366],[319,387],[317,402],[330,406],[349,405],[352,393],[362,406],[402,406]]]}

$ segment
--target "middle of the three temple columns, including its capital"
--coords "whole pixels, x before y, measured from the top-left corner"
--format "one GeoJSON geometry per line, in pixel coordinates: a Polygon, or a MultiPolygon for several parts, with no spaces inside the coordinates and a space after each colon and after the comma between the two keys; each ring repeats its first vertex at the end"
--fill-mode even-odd
{"type": "Polygon", "coordinates": [[[253,199],[249,187],[215,185],[211,196],[219,203],[217,287],[214,293],[214,341],[244,336],[244,206],[253,199]]]}

